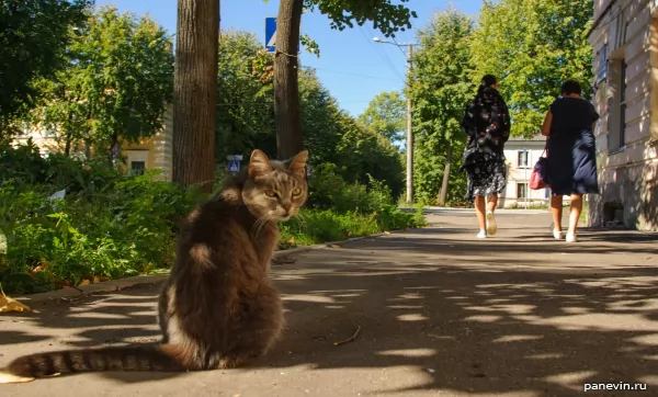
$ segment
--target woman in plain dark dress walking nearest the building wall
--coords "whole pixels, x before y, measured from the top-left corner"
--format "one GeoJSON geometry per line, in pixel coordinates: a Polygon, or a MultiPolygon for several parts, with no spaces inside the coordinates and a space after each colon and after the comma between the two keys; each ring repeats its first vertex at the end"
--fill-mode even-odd
{"type": "Polygon", "coordinates": [[[582,195],[599,193],[597,152],[593,134],[599,114],[582,97],[577,81],[567,80],[561,97],[551,104],[542,135],[547,141],[546,182],[551,185],[553,236],[561,239],[563,196],[571,196],[567,242],[576,242],[578,218],[582,211],[582,195]]]}

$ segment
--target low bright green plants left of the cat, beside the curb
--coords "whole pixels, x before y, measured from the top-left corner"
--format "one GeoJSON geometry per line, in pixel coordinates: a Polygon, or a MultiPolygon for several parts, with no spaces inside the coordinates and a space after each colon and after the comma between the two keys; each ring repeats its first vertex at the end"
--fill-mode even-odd
{"type": "Polygon", "coordinates": [[[48,200],[41,186],[21,192],[11,181],[2,183],[0,232],[8,249],[0,280],[5,290],[38,292],[169,266],[175,226],[198,196],[152,177],[120,181],[91,200],[48,200]]]}

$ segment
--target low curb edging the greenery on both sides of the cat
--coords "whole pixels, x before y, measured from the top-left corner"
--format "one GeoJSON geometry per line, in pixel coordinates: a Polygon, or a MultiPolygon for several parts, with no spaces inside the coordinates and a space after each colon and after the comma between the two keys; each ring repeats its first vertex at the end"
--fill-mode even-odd
{"type": "MultiPolygon", "coordinates": [[[[392,230],[388,234],[401,232],[401,231],[404,231],[404,230],[392,230]]],[[[386,235],[387,235],[387,232],[379,232],[379,234],[371,235],[371,236],[353,237],[353,238],[350,238],[347,240],[328,241],[328,242],[322,242],[322,243],[315,245],[315,246],[307,246],[307,247],[293,248],[290,250],[274,251],[274,253],[272,254],[272,259],[299,254],[299,253],[304,253],[304,252],[308,252],[308,251],[313,251],[313,250],[317,250],[317,249],[322,249],[322,248],[329,248],[330,246],[340,246],[340,245],[344,245],[348,242],[363,240],[366,238],[377,238],[377,237],[386,236],[386,235]]],[[[66,298],[66,297],[82,297],[82,296],[86,296],[86,295],[92,294],[92,293],[115,292],[115,291],[121,291],[123,288],[135,286],[135,285],[157,284],[157,283],[164,282],[168,277],[169,277],[169,273],[136,275],[133,277],[111,280],[111,281],[106,281],[104,283],[100,283],[100,284],[89,284],[89,285],[84,285],[84,286],[79,286],[79,287],[77,287],[78,290],[63,288],[63,290],[57,290],[57,291],[44,292],[44,293],[39,293],[39,294],[14,296],[13,298],[30,306],[30,304],[60,299],[60,298],[66,298]],[[80,292],[79,290],[81,290],[82,292],[80,292]]]]}

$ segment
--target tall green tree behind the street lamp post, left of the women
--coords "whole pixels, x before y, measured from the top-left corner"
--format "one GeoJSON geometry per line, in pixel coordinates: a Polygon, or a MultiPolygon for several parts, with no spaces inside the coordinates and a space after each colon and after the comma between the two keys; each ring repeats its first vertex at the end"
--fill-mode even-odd
{"type": "Polygon", "coordinates": [[[440,205],[449,198],[449,182],[456,171],[453,154],[463,149],[466,138],[461,128],[464,105],[475,92],[469,50],[473,29],[467,15],[451,9],[436,13],[419,31],[421,48],[409,88],[418,154],[415,182],[423,201],[440,205]]]}

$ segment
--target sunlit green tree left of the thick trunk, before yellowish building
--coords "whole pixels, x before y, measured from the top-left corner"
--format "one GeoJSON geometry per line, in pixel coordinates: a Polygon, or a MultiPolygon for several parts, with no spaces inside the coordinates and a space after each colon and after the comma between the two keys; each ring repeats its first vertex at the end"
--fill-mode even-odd
{"type": "Polygon", "coordinates": [[[80,140],[111,156],[123,140],[162,128],[172,94],[171,38],[149,16],[103,7],[69,46],[71,63],[53,79],[33,120],[59,133],[68,155],[80,140]]]}

